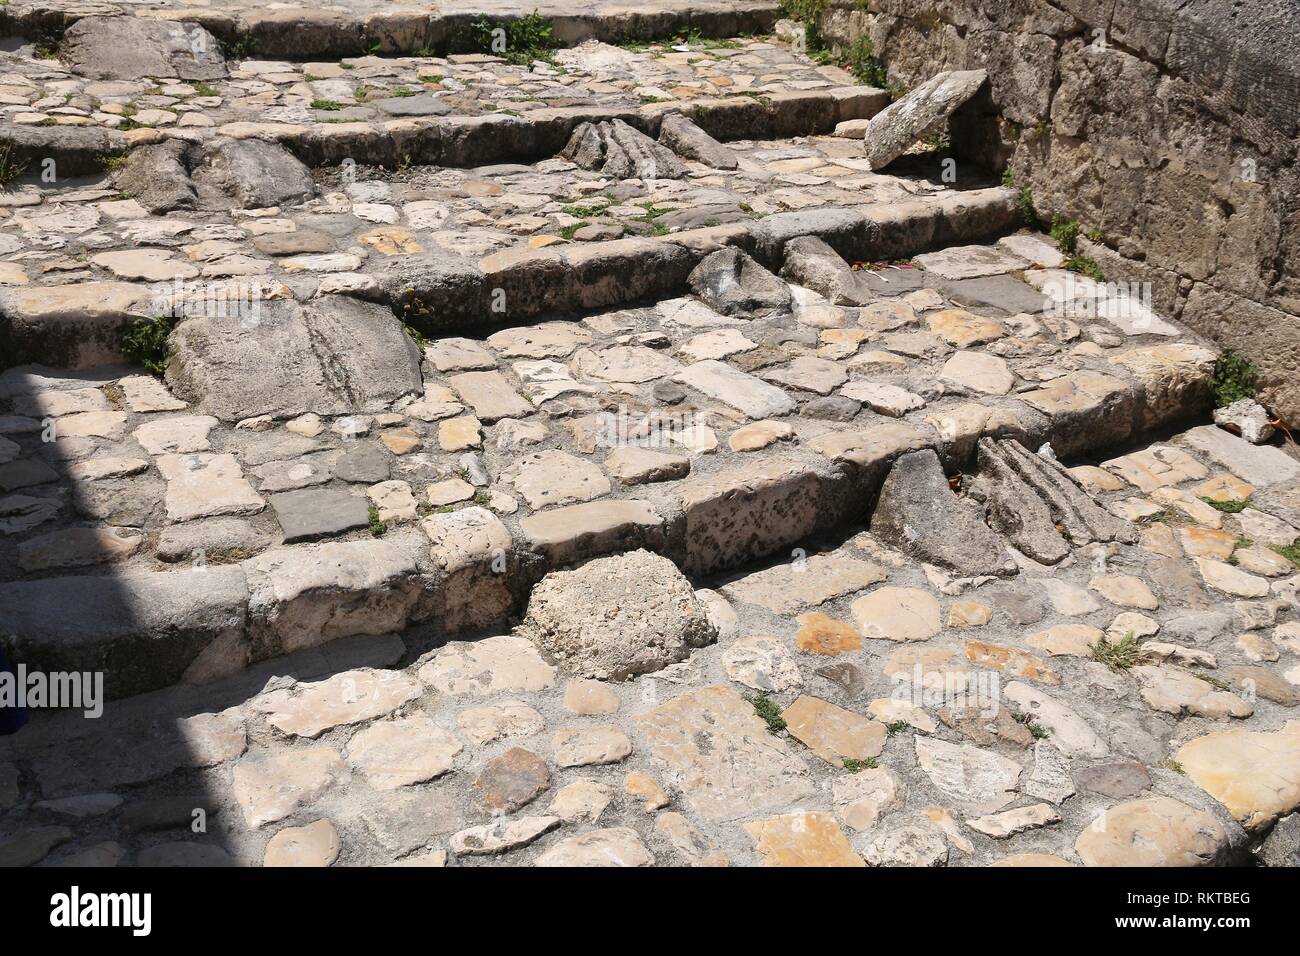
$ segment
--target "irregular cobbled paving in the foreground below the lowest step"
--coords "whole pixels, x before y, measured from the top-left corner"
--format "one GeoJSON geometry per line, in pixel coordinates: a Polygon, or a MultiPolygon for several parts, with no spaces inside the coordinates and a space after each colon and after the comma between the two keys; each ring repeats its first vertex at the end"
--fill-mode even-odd
{"type": "Polygon", "coordinates": [[[5,830],[22,834],[0,857],[1242,861],[1300,805],[1300,568],[1251,531],[1300,537],[1300,483],[1282,451],[1245,481],[1204,450],[1239,441],[1202,425],[1074,464],[1140,538],[1054,567],[1013,553],[1014,576],[961,578],[858,529],[702,579],[716,644],[625,683],[567,678],[504,631],[433,650],[408,633],[121,701],[100,722],[38,714],[0,750],[5,830]],[[1247,506],[1208,527],[1162,490],[1247,506]],[[893,632],[911,620],[904,591],[936,627],[893,632]],[[872,596],[888,600],[864,620],[872,596]],[[1135,646],[1108,665],[1098,641],[1135,646]],[[770,732],[758,692],[788,730],[770,732]],[[190,830],[196,808],[207,832],[190,830]]]}

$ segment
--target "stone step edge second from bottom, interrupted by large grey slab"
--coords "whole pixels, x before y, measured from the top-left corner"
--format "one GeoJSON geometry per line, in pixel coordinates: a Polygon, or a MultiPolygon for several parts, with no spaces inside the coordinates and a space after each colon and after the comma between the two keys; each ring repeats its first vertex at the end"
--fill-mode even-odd
{"type": "MultiPolygon", "coordinates": [[[[996,239],[1019,224],[1015,191],[998,186],[870,213],[852,208],[781,212],[658,238],[506,250],[478,261],[450,254],[419,256],[419,271],[406,261],[413,258],[396,256],[385,273],[391,281],[380,276],[376,287],[361,294],[390,306],[421,333],[443,336],[684,295],[690,271],[727,246],[779,268],[785,243],[811,235],[849,261],[880,261],[996,239]],[[508,323],[494,310],[502,300],[498,290],[510,303],[508,323]]],[[[0,311],[6,364],[87,368],[121,360],[122,332],[136,319],[151,317],[155,290],[130,282],[86,285],[94,286],[87,287],[88,298],[51,298],[40,286],[12,290],[0,311]]]]}

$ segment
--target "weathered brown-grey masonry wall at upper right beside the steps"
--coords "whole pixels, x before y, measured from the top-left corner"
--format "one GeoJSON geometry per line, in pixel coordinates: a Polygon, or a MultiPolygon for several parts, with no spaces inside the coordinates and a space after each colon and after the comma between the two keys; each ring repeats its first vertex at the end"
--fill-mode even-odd
{"type": "Polygon", "coordinates": [[[1108,280],[1248,356],[1300,421],[1295,0],[832,0],[909,87],[985,69],[1015,185],[1078,220],[1108,280]]]}

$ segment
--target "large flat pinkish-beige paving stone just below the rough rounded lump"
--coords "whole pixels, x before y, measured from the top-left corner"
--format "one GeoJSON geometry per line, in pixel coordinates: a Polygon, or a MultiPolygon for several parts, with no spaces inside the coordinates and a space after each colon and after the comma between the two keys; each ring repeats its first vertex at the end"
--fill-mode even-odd
{"type": "Polygon", "coordinates": [[[729,688],[689,691],[636,723],[668,784],[707,821],[776,810],[812,792],[805,763],[729,688]]]}

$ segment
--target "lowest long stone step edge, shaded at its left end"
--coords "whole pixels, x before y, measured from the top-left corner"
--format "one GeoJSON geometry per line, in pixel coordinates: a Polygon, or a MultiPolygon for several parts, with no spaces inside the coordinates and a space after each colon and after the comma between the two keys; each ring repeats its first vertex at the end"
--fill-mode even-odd
{"type": "Polygon", "coordinates": [[[948,467],[980,437],[1086,455],[1158,433],[1208,407],[1214,352],[1131,349],[1108,372],[1079,371],[1015,395],[1011,414],[966,406],[924,424],[832,432],[806,446],[507,527],[486,509],[434,514],[374,540],[281,546],[240,563],[0,585],[18,661],[103,671],[109,697],[205,684],[343,637],[424,626],[450,635],[508,623],[532,587],[566,564],[646,548],[701,578],[744,567],[870,520],[901,454],[948,467]],[[980,415],[980,410],[985,414],[980,415]]]}

